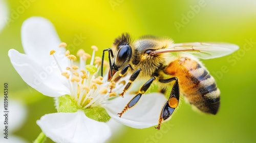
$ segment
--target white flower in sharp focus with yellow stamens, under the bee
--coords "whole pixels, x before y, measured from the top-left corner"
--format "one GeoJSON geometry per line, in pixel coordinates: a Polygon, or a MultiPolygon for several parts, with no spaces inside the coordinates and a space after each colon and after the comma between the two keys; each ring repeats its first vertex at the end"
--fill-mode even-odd
{"type": "MultiPolygon", "coordinates": [[[[124,86],[117,83],[113,92],[109,93],[106,77],[102,79],[95,76],[100,68],[99,58],[95,61],[96,65],[92,65],[97,51],[95,46],[90,65],[85,66],[88,55],[83,50],[78,51],[79,68],[74,65],[76,57],[69,55],[65,48],[58,47],[60,39],[52,24],[41,17],[32,17],[24,22],[22,43],[26,55],[11,49],[9,57],[27,84],[46,96],[56,98],[58,113],[46,114],[37,121],[42,131],[53,141],[104,142],[111,135],[109,126],[104,123],[109,120],[109,115],[134,128],[158,124],[162,105],[166,101],[160,93],[142,96],[135,107],[125,112],[121,118],[118,117],[117,113],[134,95],[110,97],[115,92],[120,93],[124,86]],[[50,51],[52,55],[49,54],[50,51]]],[[[66,46],[63,43],[60,45],[66,46]]]]}

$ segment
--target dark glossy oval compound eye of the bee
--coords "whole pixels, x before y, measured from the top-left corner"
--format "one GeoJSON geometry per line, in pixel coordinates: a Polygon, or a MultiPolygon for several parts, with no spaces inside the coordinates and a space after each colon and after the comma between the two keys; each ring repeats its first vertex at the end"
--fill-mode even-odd
{"type": "Polygon", "coordinates": [[[116,56],[115,64],[118,67],[122,66],[125,62],[130,60],[131,55],[132,55],[131,46],[128,44],[121,45],[120,49],[118,50],[117,56],[116,56]]]}

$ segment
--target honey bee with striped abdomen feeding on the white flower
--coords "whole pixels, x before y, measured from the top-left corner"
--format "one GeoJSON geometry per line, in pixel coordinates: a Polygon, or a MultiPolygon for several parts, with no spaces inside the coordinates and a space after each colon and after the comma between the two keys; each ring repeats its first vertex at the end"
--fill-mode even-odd
{"type": "MultiPolygon", "coordinates": [[[[169,98],[160,112],[158,126],[167,121],[177,109],[182,96],[202,112],[216,114],[220,106],[220,90],[215,79],[198,60],[218,58],[239,49],[230,43],[191,42],[174,43],[167,38],[142,36],[132,40],[129,34],[117,37],[109,52],[110,71],[108,81],[117,82],[130,75],[129,82],[119,96],[123,96],[135,80],[146,79],[136,96],[118,113],[119,117],[135,106],[143,93],[154,83],[159,92],[169,98]],[[119,74],[116,74],[116,73],[119,74]]],[[[102,62],[103,63],[103,62],[102,62]]],[[[102,68],[101,68],[102,74],[102,68]]]]}

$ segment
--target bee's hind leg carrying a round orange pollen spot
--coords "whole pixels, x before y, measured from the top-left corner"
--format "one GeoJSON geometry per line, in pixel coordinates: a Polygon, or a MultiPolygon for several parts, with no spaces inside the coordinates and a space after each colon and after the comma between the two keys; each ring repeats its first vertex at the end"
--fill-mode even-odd
{"type": "Polygon", "coordinates": [[[179,90],[179,84],[178,84],[178,79],[176,77],[170,78],[170,79],[159,79],[159,82],[161,83],[169,83],[175,81],[172,91],[170,91],[170,96],[168,101],[164,104],[159,120],[158,120],[158,126],[155,127],[156,129],[160,129],[161,123],[164,120],[167,120],[167,118],[170,117],[170,115],[173,114],[175,108],[179,104],[179,99],[180,99],[180,90],[179,90]]]}

